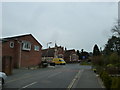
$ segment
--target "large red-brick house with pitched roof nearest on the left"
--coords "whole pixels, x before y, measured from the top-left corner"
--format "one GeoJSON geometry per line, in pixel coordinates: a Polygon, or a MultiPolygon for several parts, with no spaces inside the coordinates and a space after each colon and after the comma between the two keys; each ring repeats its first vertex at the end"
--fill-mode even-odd
{"type": "Polygon", "coordinates": [[[2,38],[0,48],[2,57],[12,57],[14,68],[36,66],[41,63],[42,45],[32,34],[2,38]]]}

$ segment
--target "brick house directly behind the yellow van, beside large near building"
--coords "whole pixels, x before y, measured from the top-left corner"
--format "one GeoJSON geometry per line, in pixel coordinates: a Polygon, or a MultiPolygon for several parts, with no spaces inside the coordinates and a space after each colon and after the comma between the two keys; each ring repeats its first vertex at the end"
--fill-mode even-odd
{"type": "Polygon", "coordinates": [[[64,58],[64,48],[55,44],[53,48],[42,50],[42,60],[51,61],[53,58],[64,58]]]}

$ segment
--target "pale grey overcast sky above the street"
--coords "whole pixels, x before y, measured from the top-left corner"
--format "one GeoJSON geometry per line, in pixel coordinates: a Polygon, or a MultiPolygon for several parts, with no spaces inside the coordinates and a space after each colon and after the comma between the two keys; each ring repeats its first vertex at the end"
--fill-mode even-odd
{"type": "Polygon", "coordinates": [[[117,2],[5,2],[2,37],[31,33],[42,45],[92,51],[104,47],[118,19],[117,2]]]}

